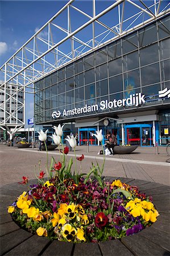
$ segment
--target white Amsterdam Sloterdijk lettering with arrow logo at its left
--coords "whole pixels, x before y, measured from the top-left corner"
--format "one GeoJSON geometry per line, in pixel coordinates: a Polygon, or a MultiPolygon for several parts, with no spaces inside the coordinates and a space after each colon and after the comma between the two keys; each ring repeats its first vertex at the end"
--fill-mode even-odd
{"type": "Polygon", "coordinates": [[[58,111],[54,111],[52,113],[52,118],[59,118],[60,116],[62,117],[70,117],[72,115],[78,115],[78,114],[84,114],[84,113],[90,113],[90,112],[97,112],[98,110],[106,110],[106,109],[114,109],[114,108],[121,108],[122,106],[139,106],[141,104],[146,103],[144,100],[145,95],[142,93],[134,93],[131,94],[130,97],[128,98],[123,98],[116,100],[114,99],[113,101],[108,101],[108,100],[103,100],[98,104],[94,105],[85,105],[82,108],[74,108],[74,109],[64,109],[63,113],[58,111]]]}

